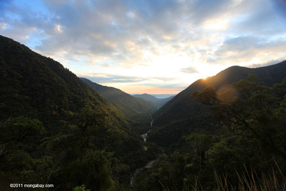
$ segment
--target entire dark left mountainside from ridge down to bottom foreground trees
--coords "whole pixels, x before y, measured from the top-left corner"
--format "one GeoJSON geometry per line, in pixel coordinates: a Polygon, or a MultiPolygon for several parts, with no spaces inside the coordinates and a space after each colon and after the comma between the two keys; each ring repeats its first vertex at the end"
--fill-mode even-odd
{"type": "Polygon", "coordinates": [[[132,172],[154,160],[107,99],[59,62],[4,36],[0,87],[3,190],[11,182],[127,190],[132,172]]]}

